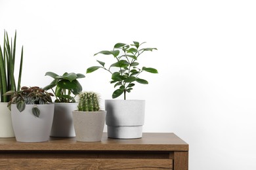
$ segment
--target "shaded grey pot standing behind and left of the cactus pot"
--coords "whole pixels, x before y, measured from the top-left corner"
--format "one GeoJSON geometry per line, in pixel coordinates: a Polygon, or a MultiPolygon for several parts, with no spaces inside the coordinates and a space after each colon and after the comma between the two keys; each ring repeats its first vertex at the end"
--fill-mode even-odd
{"type": "Polygon", "coordinates": [[[78,103],[54,103],[51,137],[75,137],[72,111],[78,103]]]}

